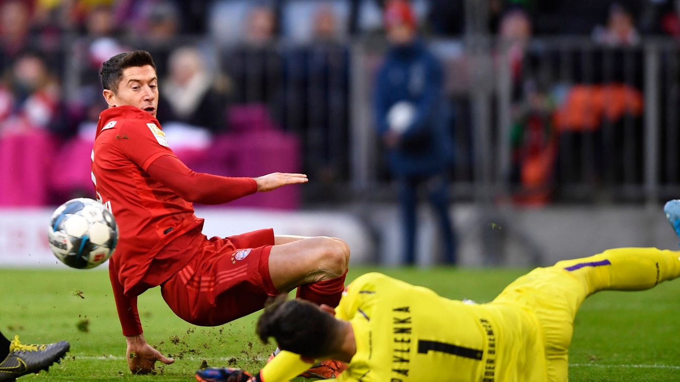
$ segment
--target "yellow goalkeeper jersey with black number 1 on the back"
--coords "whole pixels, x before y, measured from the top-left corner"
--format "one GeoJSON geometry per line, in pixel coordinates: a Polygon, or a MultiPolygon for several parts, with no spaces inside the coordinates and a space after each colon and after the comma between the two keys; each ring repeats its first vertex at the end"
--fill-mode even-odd
{"type": "MultiPolygon", "coordinates": [[[[337,381],[547,380],[539,323],[520,307],[449,300],[367,273],[352,282],[335,311],[351,322],[356,339],[356,354],[337,381]]],[[[275,382],[307,367],[282,351],[262,371],[270,376],[265,381],[275,382]],[[288,373],[275,372],[284,365],[288,373]]]]}

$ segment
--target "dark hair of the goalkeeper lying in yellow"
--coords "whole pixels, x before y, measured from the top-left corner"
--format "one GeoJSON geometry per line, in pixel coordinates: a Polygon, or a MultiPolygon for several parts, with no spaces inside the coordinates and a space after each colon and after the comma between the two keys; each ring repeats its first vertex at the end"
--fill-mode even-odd
{"type": "Polygon", "coordinates": [[[256,331],[263,343],[273,337],[280,349],[315,359],[333,354],[343,341],[335,317],[309,301],[286,300],[286,294],[265,308],[256,331]]]}

